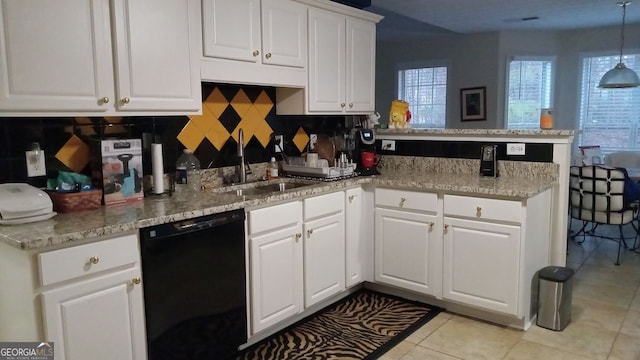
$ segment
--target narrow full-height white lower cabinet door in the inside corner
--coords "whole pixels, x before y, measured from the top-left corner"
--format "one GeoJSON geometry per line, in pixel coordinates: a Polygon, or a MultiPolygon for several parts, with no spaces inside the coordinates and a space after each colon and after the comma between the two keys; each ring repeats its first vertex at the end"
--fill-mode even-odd
{"type": "Polygon", "coordinates": [[[345,286],[353,286],[363,281],[362,272],[365,256],[362,232],[362,189],[349,189],[345,191],[345,258],[346,258],[346,283],[345,286]]]}

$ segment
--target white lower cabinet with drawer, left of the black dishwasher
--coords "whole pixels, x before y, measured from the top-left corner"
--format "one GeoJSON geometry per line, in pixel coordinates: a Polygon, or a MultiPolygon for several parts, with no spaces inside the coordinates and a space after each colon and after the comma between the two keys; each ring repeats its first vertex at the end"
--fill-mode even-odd
{"type": "Polygon", "coordinates": [[[135,235],[38,255],[56,359],[146,359],[139,256],[135,235]]]}

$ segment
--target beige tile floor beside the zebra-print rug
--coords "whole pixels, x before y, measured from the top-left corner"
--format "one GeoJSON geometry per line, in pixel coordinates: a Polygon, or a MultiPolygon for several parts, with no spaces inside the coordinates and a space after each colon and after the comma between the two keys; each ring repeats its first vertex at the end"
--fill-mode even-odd
{"type": "Polygon", "coordinates": [[[615,266],[616,252],[617,243],[607,239],[569,242],[567,266],[576,270],[573,308],[561,332],[535,324],[520,331],[443,312],[380,359],[638,360],[640,254],[623,252],[615,266]]]}

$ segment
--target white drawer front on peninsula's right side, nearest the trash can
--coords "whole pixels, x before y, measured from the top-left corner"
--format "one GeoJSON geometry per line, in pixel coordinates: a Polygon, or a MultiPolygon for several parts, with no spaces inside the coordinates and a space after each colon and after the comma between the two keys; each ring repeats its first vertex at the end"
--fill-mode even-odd
{"type": "Polygon", "coordinates": [[[513,200],[445,195],[444,215],[520,223],[522,203],[513,200]]]}

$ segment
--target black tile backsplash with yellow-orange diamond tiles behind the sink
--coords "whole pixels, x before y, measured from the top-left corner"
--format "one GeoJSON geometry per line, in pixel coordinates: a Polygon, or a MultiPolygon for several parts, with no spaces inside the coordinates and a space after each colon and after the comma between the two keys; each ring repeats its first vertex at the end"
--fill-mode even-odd
{"type": "Polygon", "coordinates": [[[350,128],[345,116],[277,116],[272,87],[203,83],[202,89],[199,116],[0,117],[0,183],[44,186],[58,171],[89,174],[86,159],[93,140],[142,139],[144,174],[150,174],[153,142],[163,144],[164,169],[171,172],[184,148],[194,151],[203,168],[237,164],[240,128],[250,163],[276,155],[272,133],[284,135],[285,153],[295,156],[305,151],[308,134],[333,136],[350,128]],[[45,152],[45,177],[27,177],[25,151],[34,142],[45,152]]]}

